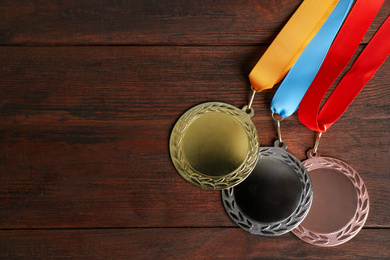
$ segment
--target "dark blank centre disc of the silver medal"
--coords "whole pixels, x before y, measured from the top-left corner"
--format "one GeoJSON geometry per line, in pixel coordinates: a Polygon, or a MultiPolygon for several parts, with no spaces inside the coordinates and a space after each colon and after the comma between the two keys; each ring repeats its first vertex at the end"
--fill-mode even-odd
{"type": "Polygon", "coordinates": [[[297,208],[301,194],[295,171],[284,161],[270,157],[260,158],[251,175],[234,187],[239,208],[263,223],[289,217],[297,208]]]}

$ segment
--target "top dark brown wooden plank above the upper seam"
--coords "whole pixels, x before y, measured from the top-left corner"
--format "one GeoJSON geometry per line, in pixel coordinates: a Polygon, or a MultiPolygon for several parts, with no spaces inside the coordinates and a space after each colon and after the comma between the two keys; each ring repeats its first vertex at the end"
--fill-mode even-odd
{"type": "MultiPolygon", "coordinates": [[[[264,44],[272,41],[301,2],[3,0],[0,44],[264,44]]],[[[385,1],[364,42],[386,19],[389,8],[385,1]]]]}

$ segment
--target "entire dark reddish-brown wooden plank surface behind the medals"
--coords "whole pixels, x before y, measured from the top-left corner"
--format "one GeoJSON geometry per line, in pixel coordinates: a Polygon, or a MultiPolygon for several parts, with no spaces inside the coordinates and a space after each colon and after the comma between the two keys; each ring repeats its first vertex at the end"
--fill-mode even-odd
{"type": "MultiPolygon", "coordinates": [[[[170,160],[187,109],[247,104],[247,75],[300,3],[0,1],[0,259],[390,258],[389,59],[320,144],[369,191],[346,244],[251,235],[170,160]]],[[[386,0],[355,58],[389,13],[386,0]]],[[[274,93],[254,101],[262,146],[274,93]]],[[[282,133],[304,160],[315,134],[296,114],[282,133]]]]}

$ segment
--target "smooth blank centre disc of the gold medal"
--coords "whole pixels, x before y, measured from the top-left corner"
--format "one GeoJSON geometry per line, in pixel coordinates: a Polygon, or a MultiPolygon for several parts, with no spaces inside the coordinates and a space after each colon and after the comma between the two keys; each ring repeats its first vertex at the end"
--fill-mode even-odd
{"type": "Polygon", "coordinates": [[[196,118],[182,142],[189,164],[209,176],[236,170],[245,161],[249,147],[245,129],[234,117],[213,112],[196,118]]]}

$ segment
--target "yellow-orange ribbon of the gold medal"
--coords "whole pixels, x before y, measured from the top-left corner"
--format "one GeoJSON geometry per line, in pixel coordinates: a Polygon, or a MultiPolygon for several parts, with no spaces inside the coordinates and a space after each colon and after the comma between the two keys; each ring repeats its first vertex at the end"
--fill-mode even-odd
{"type": "Polygon", "coordinates": [[[249,74],[255,91],[272,88],[297,61],[337,0],[304,0],[249,74]]]}

